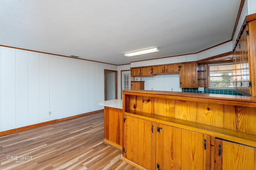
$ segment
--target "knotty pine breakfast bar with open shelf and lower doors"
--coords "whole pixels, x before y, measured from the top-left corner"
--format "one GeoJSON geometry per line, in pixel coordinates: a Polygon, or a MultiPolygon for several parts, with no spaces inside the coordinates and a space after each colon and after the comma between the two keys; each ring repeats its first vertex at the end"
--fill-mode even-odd
{"type": "Polygon", "coordinates": [[[122,160],[139,169],[256,167],[256,98],[123,90],[122,160]]]}

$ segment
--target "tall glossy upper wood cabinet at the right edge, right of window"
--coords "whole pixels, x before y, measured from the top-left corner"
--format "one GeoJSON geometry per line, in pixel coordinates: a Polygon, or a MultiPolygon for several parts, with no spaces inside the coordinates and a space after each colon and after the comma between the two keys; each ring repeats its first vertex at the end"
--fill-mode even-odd
{"type": "Polygon", "coordinates": [[[256,97],[256,14],[246,16],[233,50],[236,90],[256,97]]]}

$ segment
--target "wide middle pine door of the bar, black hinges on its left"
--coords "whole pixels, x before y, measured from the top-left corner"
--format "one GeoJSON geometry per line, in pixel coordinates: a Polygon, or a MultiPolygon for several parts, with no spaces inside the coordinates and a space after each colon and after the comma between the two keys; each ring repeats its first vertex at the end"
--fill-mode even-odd
{"type": "Polygon", "coordinates": [[[210,169],[210,136],[158,124],[156,162],[161,170],[210,169]]]}

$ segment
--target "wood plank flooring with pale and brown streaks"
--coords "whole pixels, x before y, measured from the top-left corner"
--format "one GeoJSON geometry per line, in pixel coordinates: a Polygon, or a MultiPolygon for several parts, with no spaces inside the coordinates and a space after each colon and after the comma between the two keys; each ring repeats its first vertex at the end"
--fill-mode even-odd
{"type": "Polygon", "coordinates": [[[2,135],[0,170],[136,170],[103,139],[103,112],[2,135]]]}

